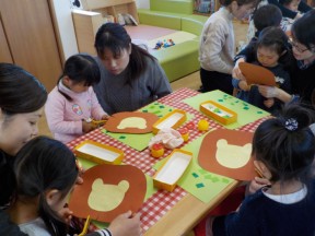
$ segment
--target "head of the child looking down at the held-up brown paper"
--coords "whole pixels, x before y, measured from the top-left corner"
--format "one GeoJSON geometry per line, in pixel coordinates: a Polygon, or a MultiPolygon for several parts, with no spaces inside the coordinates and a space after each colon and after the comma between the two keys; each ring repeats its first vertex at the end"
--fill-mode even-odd
{"type": "Polygon", "coordinates": [[[267,27],[257,40],[257,60],[264,67],[276,67],[289,49],[289,38],[280,27],[267,27]]]}

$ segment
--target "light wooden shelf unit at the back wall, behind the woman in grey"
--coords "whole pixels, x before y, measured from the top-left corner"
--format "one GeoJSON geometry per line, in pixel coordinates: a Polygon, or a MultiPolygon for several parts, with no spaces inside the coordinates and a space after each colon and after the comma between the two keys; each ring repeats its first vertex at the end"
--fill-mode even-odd
{"type": "Polygon", "coordinates": [[[72,17],[80,52],[95,55],[94,38],[98,27],[106,22],[106,15],[128,13],[139,22],[135,0],[81,0],[82,10],[73,10],[72,17]]]}

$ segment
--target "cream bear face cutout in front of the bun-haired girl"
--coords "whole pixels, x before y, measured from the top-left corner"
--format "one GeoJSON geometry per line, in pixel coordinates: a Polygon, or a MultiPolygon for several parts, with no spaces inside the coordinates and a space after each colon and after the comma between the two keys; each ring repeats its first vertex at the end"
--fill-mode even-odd
{"type": "Polygon", "coordinates": [[[229,144],[225,139],[217,141],[215,158],[228,168],[241,168],[250,160],[252,143],[243,146],[229,144]]]}

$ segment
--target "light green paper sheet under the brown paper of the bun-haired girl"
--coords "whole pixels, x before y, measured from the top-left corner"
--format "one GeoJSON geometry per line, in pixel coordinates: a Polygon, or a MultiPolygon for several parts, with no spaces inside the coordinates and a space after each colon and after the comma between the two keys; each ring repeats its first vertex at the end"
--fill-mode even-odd
{"type": "MultiPolygon", "coordinates": [[[[196,198],[200,199],[202,202],[209,202],[221,191],[226,188],[233,179],[228,178],[225,176],[220,176],[213,173],[209,173],[206,169],[202,169],[198,164],[198,153],[200,150],[201,142],[203,140],[203,135],[197,138],[196,140],[191,141],[190,143],[186,144],[182,148],[182,150],[188,151],[192,153],[192,160],[189,164],[188,168],[186,169],[185,174],[178,180],[177,185],[185,189],[190,194],[194,194],[196,198]],[[194,173],[198,173],[199,178],[194,177],[194,173]],[[209,176],[212,178],[209,179],[209,176]],[[214,181],[213,181],[214,179],[214,181]],[[202,182],[205,185],[203,188],[196,188],[198,184],[202,182]]],[[[153,167],[159,169],[167,158],[164,158],[158,162],[153,167]]]]}

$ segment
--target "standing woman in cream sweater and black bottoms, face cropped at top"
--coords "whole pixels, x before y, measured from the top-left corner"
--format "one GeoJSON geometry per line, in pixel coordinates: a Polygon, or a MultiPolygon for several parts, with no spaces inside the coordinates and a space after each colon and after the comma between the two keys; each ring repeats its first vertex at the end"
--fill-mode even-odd
{"type": "Polygon", "coordinates": [[[221,90],[232,94],[232,69],[235,56],[232,20],[246,17],[256,0],[222,0],[223,5],[206,22],[199,46],[201,92],[221,90]]]}

